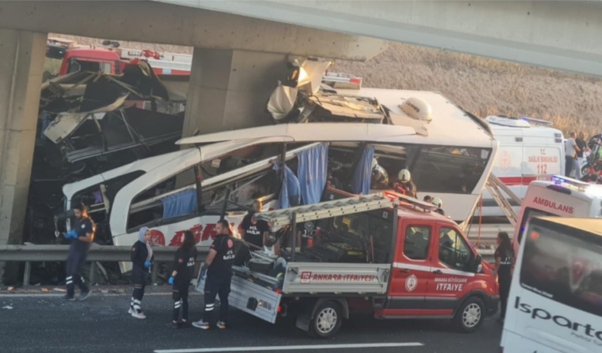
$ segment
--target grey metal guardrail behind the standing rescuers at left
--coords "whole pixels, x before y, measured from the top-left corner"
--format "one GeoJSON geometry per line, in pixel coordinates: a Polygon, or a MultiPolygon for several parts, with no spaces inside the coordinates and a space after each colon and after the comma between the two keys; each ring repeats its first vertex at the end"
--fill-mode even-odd
{"type": "MultiPolygon", "coordinates": [[[[155,263],[174,261],[177,247],[153,247],[155,263]]],[[[23,285],[29,285],[32,262],[66,261],[69,245],[2,245],[0,246],[0,261],[25,262],[23,285]]],[[[197,247],[198,260],[203,261],[209,253],[207,247],[197,247]]],[[[92,281],[94,265],[99,261],[130,261],[132,247],[92,244],[87,253],[90,261],[90,280],[92,281]]],[[[151,277],[157,280],[158,266],[153,266],[151,277]]]]}

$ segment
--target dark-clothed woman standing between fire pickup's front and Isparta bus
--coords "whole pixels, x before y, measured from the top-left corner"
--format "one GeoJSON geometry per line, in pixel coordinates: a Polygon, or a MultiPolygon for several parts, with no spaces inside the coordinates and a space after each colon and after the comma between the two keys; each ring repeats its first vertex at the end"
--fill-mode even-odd
{"type": "Polygon", "coordinates": [[[514,263],[514,249],[512,249],[508,233],[498,233],[498,248],[493,256],[496,258],[498,284],[500,285],[500,318],[498,321],[503,322],[506,315],[508,296],[510,295],[512,265],[514,263]]]}

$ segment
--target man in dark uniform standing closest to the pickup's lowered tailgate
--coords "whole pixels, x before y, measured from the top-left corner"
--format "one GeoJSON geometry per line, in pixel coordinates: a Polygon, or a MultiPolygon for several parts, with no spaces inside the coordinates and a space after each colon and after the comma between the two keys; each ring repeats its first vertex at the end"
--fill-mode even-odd
{"type": "Polygon", "coordinates": [[[207,330],[211,327],[211,314],[214,312],[216,296],[220,296],[220,315],[216,326],[226,328],[228,322],[228,296],[232,282],[232,263],[236,254],[236,242],[228,235],[228,221],[221,220],[216,224],[217,237],[211,244],[209,255],[205,259],[204,270],[207,270],[205,280],[205,311],[200,321],[193,326],[207,330]]]}

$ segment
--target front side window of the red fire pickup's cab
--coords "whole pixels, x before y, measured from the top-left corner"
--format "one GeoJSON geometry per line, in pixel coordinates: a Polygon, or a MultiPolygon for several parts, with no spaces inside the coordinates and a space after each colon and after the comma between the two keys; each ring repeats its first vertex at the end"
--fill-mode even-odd
{"type": "Polygon", "coordinates": [[[468,270],[472,251],[461,235],[451,228],[440,229],[439,261],[456,270],[468,270]]]}

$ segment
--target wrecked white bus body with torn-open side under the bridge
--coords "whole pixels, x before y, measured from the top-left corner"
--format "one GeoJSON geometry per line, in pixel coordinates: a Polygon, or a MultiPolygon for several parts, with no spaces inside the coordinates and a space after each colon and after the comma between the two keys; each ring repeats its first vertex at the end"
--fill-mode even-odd
{"type": "MultiPolygon", "coordinates": [[[[379,91],[359,92],[369,97],[374,94],[381,99],[379,91]]],[[[351,92],[358,93],[356,90],[351,92]]],[[[469,216],[491,173],[498,142],[493,139],[485,123],[468,116],[468,113],[437,92],[393,93],[400,102],[403,102],[402,97],[419,97],[430,104],[433,118],[428,123],[426,134],[418,134],[414,127],[401,125],[292,123],[188,137],[178,141],[178,144],[200,146],[138,160],[65,185],[65,207],[69,209],[80,195],[97,195],[95,206],[100,206],[91,212],[106,213],[106,228],[109,228],[115,245],[133,244],[139,228],[147,226],[152,229],[153,238],[158,244],[178,245],[183,231],[193,230],[201,245],[209,246],[214,236],[214,224],[221,213],[221,200],[225,194],[223,189],[226,186],[232,186],[235,190],[235,195],[230,195],[231,200],[250,206],[258,191],[248,191],[246,186],[255,188],[255,184],[261,184],[262,191],[265,191],[260,194],[264,206],[278,207],[276,200],[279,191],[274,189],[278,182],[268,179],[272,177],[270,173],[274,161],[281,158],[281,146],[287,144],[287,160],[293,161],[300,151],[314,144],[328,142],[329,157],[344,151],[355,151],[353,148],[358,149],[361,144],[374,145],[375,155],[392,166],[395,174],[390,175],[391,178],[396,177],[398,170],[408,164],[419,195],[428,193],[433,197],[439,196],[444,200],[447,214],[454,220],[463,221],[469,216]],[[229,165],[226,172],[220,171],[221,165],[225,165],[224,161],[230,156],[241,151],[244,154],[253,148],[260,150],[260,158],[240,165],[229,165]],[[202,210],[165,218],[162,213],[162,200],[165,197],[196,190],[195,167],[203,170],[200,178],[202,210]],[[211,169],[210,172],[207,169],[211,169]],[[102,191],[102,188],[106,191],[102,191]],[[253,196],[251,193],[254,193],[253,196]]],[[[392,93],[388,94],[392,99],[392,93]]],[[[398,108],[396,110],[400,111],[398,108]]],[[[342,162],[352,163],[353,158],[342,162]]],[[[243,216],[244,212],[227,216],[235,233],[237,223],[243,216]]],[[[128,263],[122,264],[122,270],[127,268],[128,263]]]]}

